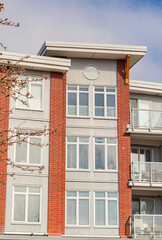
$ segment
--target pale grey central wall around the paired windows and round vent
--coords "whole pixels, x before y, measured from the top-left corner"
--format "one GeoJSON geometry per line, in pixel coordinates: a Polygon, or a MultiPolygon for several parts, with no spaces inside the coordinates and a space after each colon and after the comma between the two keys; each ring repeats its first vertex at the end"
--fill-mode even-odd
{"type": "Polygon", "coordinates": [[[89,191],[90,197],[90,226],[70,227],[66,226],[66,235],[89,236],[119,236],[118,227],[94,227],[94,192],[116,191],[118,192],[118,171],[95,171],[94,167],[94,137],[117,138],[117,118],[106,119],[94,117],[93,87],[108,86],[117,87],[117,64],[115,60],[72,59],[72,66],[67,73],[67,85],[89,86],[89,116],[68,117],[66,125],[67,136],[89,137],[89,162],[87,171],[66,170],[67,191],[89,191]],[[100,71],[96,80],[88,80],[83,70],[87,65],[94,65],[100,71]]]}

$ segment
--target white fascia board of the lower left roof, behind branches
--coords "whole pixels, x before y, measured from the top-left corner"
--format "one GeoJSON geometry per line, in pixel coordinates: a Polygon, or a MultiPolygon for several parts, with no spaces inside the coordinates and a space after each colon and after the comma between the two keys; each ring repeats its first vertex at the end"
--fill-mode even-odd
{"type": "Polygon", "coordinates": [[[70,59],[51,58],[38,55],[0,52],[0,64],[17,64],[26,69],[65,73],[71,66],[70,59]]]}

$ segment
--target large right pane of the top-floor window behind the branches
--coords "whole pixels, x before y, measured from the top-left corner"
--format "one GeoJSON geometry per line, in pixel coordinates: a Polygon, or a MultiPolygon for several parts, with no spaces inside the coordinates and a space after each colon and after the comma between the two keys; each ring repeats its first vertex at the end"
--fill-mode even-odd
{"type": "Polygon", "coordinates": [[[42,108],[42,85],[31,84],[31,95],[33,98],[30,99],[30,107],[41,109],[42,108]]]}

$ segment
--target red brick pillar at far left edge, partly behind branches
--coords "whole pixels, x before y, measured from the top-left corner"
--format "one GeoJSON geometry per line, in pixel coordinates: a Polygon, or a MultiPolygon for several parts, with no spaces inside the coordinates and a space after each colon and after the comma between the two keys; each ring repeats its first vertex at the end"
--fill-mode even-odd
{"type": "MultiPolygon", "coordinates": [[[[9,97],[0,93],[0,132],[8,130],[9,127],[9,97]],[[4,109],[4,111],[3,111],[4,109]],[[4,118],[4,119],[3,119],[4,118]],[[2,120],[3,119],[3,120],[2,120]]],[[[8,132],[4,134],[4,137],[7,136],[8,132]]],[[[0,136],[0,141],[2,137],[0,136]]],[[[7,179],[7,164],[3,160],[7,159],[7,143],[0,146],[1,150],[4,153],[0,153],[0,234],[4,233],[5,229],[5,208],[6,208],[6,179],[7,179]]]]}

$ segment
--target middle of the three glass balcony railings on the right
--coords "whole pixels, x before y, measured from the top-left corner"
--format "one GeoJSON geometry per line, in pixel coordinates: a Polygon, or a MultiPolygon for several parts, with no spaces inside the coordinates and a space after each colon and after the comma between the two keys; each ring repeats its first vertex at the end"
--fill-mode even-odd
{"type": "Polygon", "coordinates": [[[162,183],[162,162],[132,162],[131,179],[134,182],[162,183]]]}

